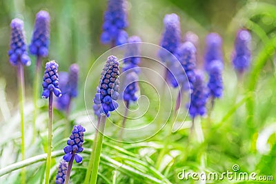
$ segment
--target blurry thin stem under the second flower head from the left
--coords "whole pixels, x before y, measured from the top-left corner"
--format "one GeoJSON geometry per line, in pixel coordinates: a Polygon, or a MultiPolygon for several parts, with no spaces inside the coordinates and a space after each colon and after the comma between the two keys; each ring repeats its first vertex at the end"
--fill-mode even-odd
{"type": "Polygon", "coordinates": [[[37,120],[37,98],[39,96],[39,76],[41,71],[41,57],[37,57],[37,64],[35,68],[35,75],[34,75],[34,88],[33,88],[33,101],[34,101],[34,114],[32,119],[32,143],[36,138],[37,128],[35,126],[35,121],[37,120]]]}

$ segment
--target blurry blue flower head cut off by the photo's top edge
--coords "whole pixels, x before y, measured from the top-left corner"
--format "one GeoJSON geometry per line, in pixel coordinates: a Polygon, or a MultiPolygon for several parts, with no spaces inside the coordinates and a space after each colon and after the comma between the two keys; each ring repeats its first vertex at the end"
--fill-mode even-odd
{"type": "Polygon", "coordinates": [[[104,13],[103,44],[121,45],[127,42],[128,33],[124,30],[128,26],[126,0],[108,0],[108,8],[104,13]]]}

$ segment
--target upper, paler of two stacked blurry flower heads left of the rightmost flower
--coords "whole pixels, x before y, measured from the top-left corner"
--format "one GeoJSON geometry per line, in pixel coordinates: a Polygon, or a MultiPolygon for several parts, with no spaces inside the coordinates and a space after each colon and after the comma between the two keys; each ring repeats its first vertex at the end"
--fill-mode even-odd
{"type": "Polygon", "coordinates": [[[205,70],[208,72],[209,66],[213,61],[221,61],[223,62],[221,45],[222,39],[216,32],[211,32],[207,35],[206,39],[206,50],[204,55],[204,66],[205,70]]]}

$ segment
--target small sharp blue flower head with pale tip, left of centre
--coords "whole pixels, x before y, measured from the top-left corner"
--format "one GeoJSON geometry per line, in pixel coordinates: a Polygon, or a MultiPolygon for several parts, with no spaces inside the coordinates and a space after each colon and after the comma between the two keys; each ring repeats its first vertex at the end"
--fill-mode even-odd
{"type": "Polygon", "coordinates": [[[54,92],[55,96],[61,97],[61,90],[59,90],[59,65],[55,61],[46,63],[45,72],[43,76],[43,92],[42,98],[48,99],[50,92],[54,92]]]}

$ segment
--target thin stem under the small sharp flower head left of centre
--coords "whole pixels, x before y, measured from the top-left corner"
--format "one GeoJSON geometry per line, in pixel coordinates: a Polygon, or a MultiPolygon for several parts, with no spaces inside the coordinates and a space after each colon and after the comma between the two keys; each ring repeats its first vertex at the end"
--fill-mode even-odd
{"type": "Polygon", "coordinates": [[[46,180],[45,183],[50,181],[50,167],[51,167],[51,151],[52,151],[52,92],[49,96],[49,121],[48,121],[48,147],[47,147],[47,161],[46,161],[46,180]]]}

